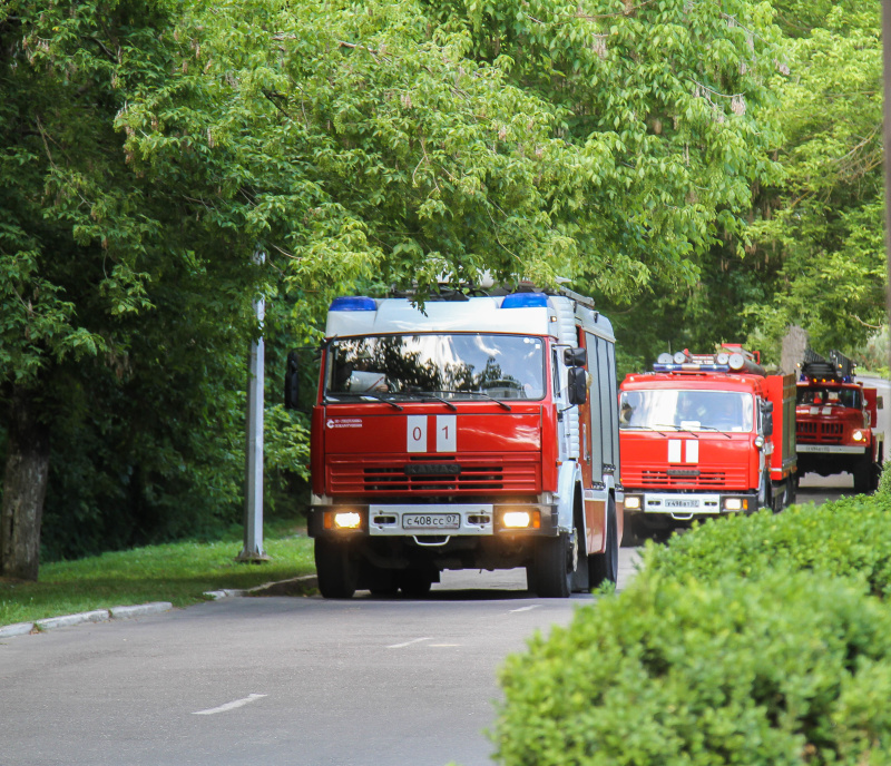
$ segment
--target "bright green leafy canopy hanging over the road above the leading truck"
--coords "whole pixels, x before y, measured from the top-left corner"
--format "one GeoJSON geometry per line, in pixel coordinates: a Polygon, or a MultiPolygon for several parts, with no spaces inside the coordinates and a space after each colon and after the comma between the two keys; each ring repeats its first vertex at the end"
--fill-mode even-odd
{"type": "Polygon", "coordinates": [[[775,170],[770,8],[725,6],[196,3],[118,124],[135,168],[188,167],[196,214],[263,243],[304,321],[443,272],[689,282],[775,170]]]}

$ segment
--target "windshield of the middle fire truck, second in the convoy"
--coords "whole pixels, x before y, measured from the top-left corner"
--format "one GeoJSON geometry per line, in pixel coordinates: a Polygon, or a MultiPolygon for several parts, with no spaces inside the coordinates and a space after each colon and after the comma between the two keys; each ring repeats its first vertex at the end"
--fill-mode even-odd
{"type": "Polygon", "coordinates": [[[748,432],[752,426],[752,394],[670,389],[621,392],[620,429],[748,432]]]}

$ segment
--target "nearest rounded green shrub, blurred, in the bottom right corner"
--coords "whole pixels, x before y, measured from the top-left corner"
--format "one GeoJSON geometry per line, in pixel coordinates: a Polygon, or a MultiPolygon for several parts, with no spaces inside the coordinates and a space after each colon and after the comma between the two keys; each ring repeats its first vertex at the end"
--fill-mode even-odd
{"type": "Polygon", "coordinates": [[[500,681],[506,766],[891,763],[891,612],[813,573],[642,573],[500,681]]]}

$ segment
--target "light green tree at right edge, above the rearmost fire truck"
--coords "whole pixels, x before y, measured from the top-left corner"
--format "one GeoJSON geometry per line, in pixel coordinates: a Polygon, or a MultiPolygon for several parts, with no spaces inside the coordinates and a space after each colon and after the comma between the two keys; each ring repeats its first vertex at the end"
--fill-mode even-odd
{"type": "Polygon", "coordinates": [[[853,350],[885,323],[880,8],[779,4],[795,36],[775,107],[786,173],[753,228],[780,268],[747,311],[768,341],[799,324],[816,348],[853,350]]]}

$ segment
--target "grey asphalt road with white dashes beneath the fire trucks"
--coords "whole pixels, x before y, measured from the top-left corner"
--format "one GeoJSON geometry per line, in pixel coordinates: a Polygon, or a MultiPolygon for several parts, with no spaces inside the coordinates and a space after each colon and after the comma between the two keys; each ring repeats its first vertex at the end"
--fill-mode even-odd
{"type": "MultiPolygon", "coordinates": [[[[807,474],[799,499],[851,492],[807,474]]],[[[446,572],[423,600],[235,598],[0,640],[0,766],[489,765],[503,658],[594,601],[525,588],[446,572]]]]}

